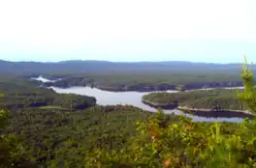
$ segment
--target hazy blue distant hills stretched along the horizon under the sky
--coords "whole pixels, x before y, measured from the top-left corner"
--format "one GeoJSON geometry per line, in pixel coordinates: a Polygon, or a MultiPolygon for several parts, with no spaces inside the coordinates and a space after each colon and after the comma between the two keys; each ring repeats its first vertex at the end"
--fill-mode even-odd
{"type": "MultiPolygon", "coordinates": [[[[256,70],[256,66],[253,66],[256,70]]],[[[182,61],[169,62],[108,62],[108,61],[61,61],[57,63],[9,62],[0,60],[1,73],[40,74],[50,72],[193,72],[193,73],[237,73],[239,64],[193,63],[182,61]]]]}

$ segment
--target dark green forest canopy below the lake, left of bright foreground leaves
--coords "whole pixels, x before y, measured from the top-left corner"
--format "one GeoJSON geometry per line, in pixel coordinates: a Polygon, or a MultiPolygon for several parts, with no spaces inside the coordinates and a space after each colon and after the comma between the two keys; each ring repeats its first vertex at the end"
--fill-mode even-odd
{"type": "Polygon", "coordinates": [[[95,149],[111,152],[128,146],[137,133],[135,122],[150,115],[130,106],[98,106],[76,112],[19,109],[11,114],[5,132],[23,140],[37,166],[82,167],[85,154],[95,149]]]}

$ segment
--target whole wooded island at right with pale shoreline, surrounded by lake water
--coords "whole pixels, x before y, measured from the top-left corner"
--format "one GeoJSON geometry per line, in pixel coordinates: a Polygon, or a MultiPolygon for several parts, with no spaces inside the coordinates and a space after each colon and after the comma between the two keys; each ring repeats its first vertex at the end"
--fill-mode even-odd
{"type": "Polygon", "coordinates": [[[236,89],[157,92],[145,95],[143,102],[154,108],[176,108],[203,117],[253,117],[248,107],[237,98],[237,92],[236,89]]]}

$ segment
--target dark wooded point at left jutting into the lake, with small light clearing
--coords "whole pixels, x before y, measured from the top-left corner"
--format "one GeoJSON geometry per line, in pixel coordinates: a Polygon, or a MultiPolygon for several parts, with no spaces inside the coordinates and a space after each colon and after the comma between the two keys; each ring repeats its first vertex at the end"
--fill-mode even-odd
{"type": "Polygon", "coordinates": [[[96,104],[96,98],[74,94],[57,94],[53,90],[31,84],[0,82],[0,92],[5,94],[0,106],[9,109],[60,106],[69,110],[85,109],[96,104]]]}

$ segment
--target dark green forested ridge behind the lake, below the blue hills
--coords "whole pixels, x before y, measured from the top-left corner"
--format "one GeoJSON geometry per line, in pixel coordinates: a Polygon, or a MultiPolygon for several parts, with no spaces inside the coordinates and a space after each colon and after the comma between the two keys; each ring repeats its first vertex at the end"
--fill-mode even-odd
{"type": "Polygon", "coordinates": [[[190,74],[167,72],[129,72],[112,74],[76,74],[63,77],[62,80],[58,80],[56,82],[46,82],[42,84],[44,86],[55,86],[61,88],[68,88],[72,86],[89,86],[107,91],[148,92],[191,90],[215,87],[238,87],[242,86],[242,81],[240,80],[239,75],[220,73],[190,74]]]}

